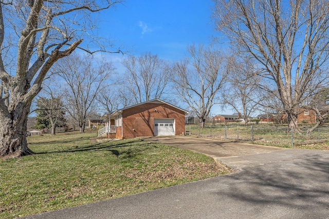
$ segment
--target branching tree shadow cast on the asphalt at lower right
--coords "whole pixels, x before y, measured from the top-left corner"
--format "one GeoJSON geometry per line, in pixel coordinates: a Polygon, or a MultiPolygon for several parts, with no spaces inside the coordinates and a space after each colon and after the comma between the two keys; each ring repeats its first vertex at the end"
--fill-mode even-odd
{"type": "Polygon", "coordinates": [[[228,189],[216,189],[215,195],[221,199],[233,198],[241,206],[272,206],[305,212],[307,209],[327,212],[329,206],[329,161],[325,154],[289,164],[265,164],[227,177],[234,183],[225,185],[228,189]]]}

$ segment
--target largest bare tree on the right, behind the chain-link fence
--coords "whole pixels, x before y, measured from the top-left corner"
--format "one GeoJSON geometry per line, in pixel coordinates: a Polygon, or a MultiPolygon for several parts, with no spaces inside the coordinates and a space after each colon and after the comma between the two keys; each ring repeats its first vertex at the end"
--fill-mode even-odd
{"type": "Polygon", "coordinates": [[[215,0],[216,28],[232,46],[253,57],[277,87],[289,127],[298,129],[304,99],[328,79],[329,3],[281,0],[215,0]]]}

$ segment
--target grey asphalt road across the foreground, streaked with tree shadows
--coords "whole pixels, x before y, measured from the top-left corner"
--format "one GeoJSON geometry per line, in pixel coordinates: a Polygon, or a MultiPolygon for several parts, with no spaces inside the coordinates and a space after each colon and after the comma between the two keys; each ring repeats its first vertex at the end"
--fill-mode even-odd
{"type": "Polygon", "coordinates": [[[240,171],[26,218],[329,218],[329,151],[216,159],[240,171]]]}

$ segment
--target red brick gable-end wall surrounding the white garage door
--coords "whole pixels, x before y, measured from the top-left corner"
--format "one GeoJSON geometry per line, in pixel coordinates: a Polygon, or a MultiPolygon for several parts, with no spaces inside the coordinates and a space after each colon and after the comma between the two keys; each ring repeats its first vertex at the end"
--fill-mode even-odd
{"type": "Polygon", "coordinates": [[[122,111],[123,138],[153,136],[154,118],[174,118],[175,134],[185,132],[184,111],[167,104],[146,103],[122,111]]]}

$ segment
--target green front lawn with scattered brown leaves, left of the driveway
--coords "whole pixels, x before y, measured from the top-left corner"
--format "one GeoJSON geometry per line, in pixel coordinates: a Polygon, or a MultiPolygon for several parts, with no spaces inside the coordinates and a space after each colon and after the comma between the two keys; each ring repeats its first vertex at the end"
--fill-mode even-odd
{"type": "Polygon", "coordinates": [[[202,180],[225,172],[203,154],[142,139],[89,144],[95,132],[28,137],[36,154],[0,159],[0,218],[202,180]]]}

